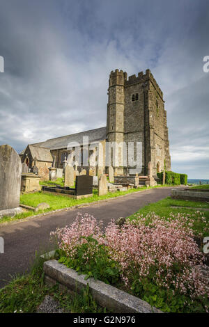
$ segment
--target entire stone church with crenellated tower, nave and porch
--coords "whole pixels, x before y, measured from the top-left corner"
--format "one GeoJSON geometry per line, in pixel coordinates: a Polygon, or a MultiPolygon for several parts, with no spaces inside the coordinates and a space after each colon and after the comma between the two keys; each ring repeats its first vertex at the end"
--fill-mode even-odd
{"type": "Polygon", "coordinates": [[[69,154],[73,158],[75,147],[69,150],[69,143],[82,145],[84,138],[88,138],[90,164],[86,166],[82,155],[77,166],[78,170],[85,168],[88,171],[91,168],[95,175],[98,169],[100,173],[107,173],[105,160],[107,143],[120,144],[118,154],[112,150],[110,154],[115,175],[131,175],[136,168],[132,163],[125,163],[123,160],[128,152],[129,143],[134,144],[133,157],[136,157],[137,143],[141,144],[141,167],[139,171],[136,170],[139,175],[147,175],[150,161],[153,164],[153,176],[164,169],[171,170],[167,111],[164,109],[162,90],[150,70],[146,70],[145,74],[139,72],[138,76],[130,77],[127,77],[127,73],[123,70],[110,73],[106,127],[33,143],[21,152],[20,157],[29,168],[33,168],[36,161],[39,174],[43,179],[47,179],[48,168],[52,166],[53,161],[56,168],[63,168],[63,163],[69,158],[69,154]],[[100,149],[102,148],[102,163],[98,158],[99,145],[100,149]],[[118,160],[114,160],[116,155],[119,157],[118,160]],[[91,166],[93,157],[96,163],[91,166]]]}

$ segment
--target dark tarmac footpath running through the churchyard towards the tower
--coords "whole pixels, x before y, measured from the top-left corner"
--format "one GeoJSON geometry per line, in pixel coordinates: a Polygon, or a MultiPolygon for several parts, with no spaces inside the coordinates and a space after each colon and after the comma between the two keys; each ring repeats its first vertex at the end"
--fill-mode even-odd
{"type": "Polygon", "coordinates": [[[36,250],[53,250],[49,242],[49,233],[57,227],[64,227],[74,221],[77,213],[93,215],[103,221],[104,226],[111,218],[127,217],[144,205],[157,202],[171,195],[171,188],[150,189],[139,193],[130,193],[107,202],[87,207],[55,212],[45,216],[29,218],[0,224],[0,236],[4,239],[4,253],[0,253],[0,287],[10,280],[10,276],[24,273],[29,269],[36,250]]]}

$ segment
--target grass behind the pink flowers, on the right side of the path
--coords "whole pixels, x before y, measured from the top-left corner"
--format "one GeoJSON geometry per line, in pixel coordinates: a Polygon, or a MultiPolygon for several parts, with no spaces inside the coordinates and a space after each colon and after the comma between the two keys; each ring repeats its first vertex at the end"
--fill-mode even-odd
{"type": "Polygon", "coordinates": [[[207,202],[194,202],[187,200],[173,200],[170,197],[160,200],[150,205],[139,209],[138,212],[127,217],[129,219],[136,219],[139,214],[146,216],[150,212],[155,212],[157,216],[164,217],[165,219],[169,217],[170,214],[191,214],[195,218],[195,223],[192,226],[194,234],[201,235],[202,237],[207,237],[209,235],[209,212],[203,212],[203,216],[206,217],[206,222],[200,218],[199,214],[196,214],[194,209],[188,209],[187,207],[196,208],[207,208],[209,209],[209,203],[207,202]],[[176,206],[177,208],[172,208],[176,206]],[[178,206],[184,207],[179,208],[178,206]]]}

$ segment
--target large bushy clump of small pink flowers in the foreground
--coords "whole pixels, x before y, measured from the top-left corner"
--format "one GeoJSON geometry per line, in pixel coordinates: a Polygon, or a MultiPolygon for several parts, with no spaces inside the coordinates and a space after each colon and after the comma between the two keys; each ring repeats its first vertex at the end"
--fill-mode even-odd
{"type": "Polygon", "coordinates": [[[201,272],[204,256],[180,214],[167,220],[154,213],[137,216],[122,227],[111,221],[104,232],[93,216],[85,214],[51,234],[64,253],[61,262],[105,282],[116,282],[120,276],[132,294],[165,311],[170,310],[164,303],[168,296],[170,301],[173,296],[179,298],[171,310],[180,311],[196,298],[209,295],[201,272]]]}

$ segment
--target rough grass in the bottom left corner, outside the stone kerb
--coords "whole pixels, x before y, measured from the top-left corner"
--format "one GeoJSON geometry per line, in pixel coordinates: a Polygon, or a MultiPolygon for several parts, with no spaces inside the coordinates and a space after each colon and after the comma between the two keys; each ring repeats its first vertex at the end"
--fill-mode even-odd
{"type": "Polygon", "coordinates": [[[72,296],[60,291],[58,285],[48,287],[44,283],[42,264],[45,260],[36,255],[31,272],[23,276],[15,276],[13,280],[0,289],[0,313],[36,313],[38,306],[46,295],[59,302],[64,312],[69,313],[100,313],[106,312],[100,308],[88,292],[88,287],[82,294],[72,296]]]}

